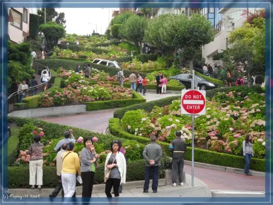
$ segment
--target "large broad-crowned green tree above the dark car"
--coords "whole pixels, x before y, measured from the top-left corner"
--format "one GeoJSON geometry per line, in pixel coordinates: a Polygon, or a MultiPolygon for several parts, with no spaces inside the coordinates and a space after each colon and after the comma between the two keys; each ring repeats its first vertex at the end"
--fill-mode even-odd
{"type": "Polygon", "coordinates": [[[187,60],[192,70],[196,53],[202,45],[212,42],[214,31],[211,22],[199,14],[190,17],[166,14],[150,21],[145,39],[161,49],[179,51],[180,68],[182,61],[187,60]]]}

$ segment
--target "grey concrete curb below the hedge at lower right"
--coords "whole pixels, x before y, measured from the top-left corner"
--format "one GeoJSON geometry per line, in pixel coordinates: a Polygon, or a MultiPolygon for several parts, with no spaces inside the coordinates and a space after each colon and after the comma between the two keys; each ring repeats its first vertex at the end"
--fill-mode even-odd
{"type": "MultiPolygon", "coordinates": [[[[184,160],[184,164],[192,166],[192,161],[184,160]]],[[[239,169],[239,168],[223,167],[223,166],[218,166],[218,165],[209,165],[207,163],[201,163],[201,162],[194,162],[194,166],[205,168],[205,169],[212,169],[212,170],[218,170],[218,171],[224,171],[224,172],[244,174],[244,170],[239,169]]],[[[258,171],[250,170],[249,173],[253,176],[265,178],[265,172],[258,172],[258,171]]]]}

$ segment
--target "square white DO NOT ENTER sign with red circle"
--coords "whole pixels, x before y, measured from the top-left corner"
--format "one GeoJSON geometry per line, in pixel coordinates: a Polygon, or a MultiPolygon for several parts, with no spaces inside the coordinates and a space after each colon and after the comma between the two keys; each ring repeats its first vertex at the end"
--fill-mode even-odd
{"type": "Polygon", "coordinates": [[[182,90],[181,94],[181,114],[204,115],[206,113],[205,91],[182,90]]]}

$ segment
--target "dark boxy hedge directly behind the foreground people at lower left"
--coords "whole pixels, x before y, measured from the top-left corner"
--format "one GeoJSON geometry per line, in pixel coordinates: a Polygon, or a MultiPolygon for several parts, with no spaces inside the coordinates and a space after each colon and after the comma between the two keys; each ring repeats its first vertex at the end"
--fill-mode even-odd
{"type": "MultiPolygon", "coordinates": [[[[162,165],[159,170],[159,178],[164,177],[164,170],[167,169],[170,159],[162,158],[162,165]]],[[[136,160],[128,162],[126,181],[137,181],[144,179],[145,161],[136,160]]],[[[95,172],[95,184],[104,183],[104,164],[101,163],[95,172]]],[[[54,188],[57,185],[57,176],[55,167],[43,167],[43,187],[54,188]]],[[[15,166],[8,167],[8,187],[9,189],[15,188],[29,188],[29,167],[28,166],[15,166]]]]}

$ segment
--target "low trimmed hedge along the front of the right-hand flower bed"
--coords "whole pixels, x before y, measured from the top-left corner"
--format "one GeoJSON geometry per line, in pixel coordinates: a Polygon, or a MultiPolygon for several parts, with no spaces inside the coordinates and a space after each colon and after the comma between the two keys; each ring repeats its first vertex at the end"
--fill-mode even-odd
{"type": "MultiPolygon", "coordinates": [[[[146,144],[150,140],[147,137],[136,136],[126,131],[123,131],[119,126],[118,118],[112,118],[109,120],[109,130],[113,135],[120,136],[122,138],[133,139],[142,144],[146,144]]],[[[167,151],[169,149],[168,143],[158,141],[158,144],[162,147],[162,150],[165,150],[168,156],[171,156],[171,153],[167,151]]],[[[185,152],[185,159],[192,160],[191,147],[187,147],[187,151],[185,152]]],[[[239,169],[243,169],[245,165],[244,157],[242,156],[213,152],[199,148],[194,149],[194,160],[197,162],[208,163],[211,165],[233,167],[239,169]]],[[[264,172],[265,160],[251,158],[250,169],[264,172]]]]}

